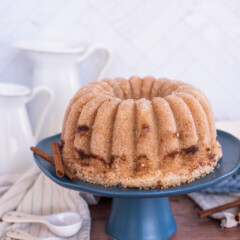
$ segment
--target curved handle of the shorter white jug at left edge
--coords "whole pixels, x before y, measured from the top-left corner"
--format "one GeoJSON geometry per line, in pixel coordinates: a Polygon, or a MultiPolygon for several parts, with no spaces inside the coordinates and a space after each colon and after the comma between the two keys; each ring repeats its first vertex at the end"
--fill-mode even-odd
{"type": "Polygon", "coordinates": [[[38,120],[36,121],[35,128],[33,129],[33,135],[36,140],[39,140],[39,135],[42,130],[44,120],[45,120],[47,112],[50,109],[50,106],[53,102],[53,91],[47,87],[38,86],[32,90],[31,95],[26,99],[26,103],[29,103],[37,95],[42,94],[42,93],[47,93],[48,99],[47,99],[47,103],[43,106],[42,111],[39,111],[39,117],[37,118],[38,120]]]}

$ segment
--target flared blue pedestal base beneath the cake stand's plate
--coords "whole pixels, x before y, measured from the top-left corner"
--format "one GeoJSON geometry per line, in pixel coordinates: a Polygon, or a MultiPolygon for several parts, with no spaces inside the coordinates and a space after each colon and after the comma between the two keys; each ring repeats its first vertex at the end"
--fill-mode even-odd
{"type": "Polygon", "coordinates": [[[177,229],[167,197],[113,198],[106,225],[118,240],[164,240],[177,229]]]}

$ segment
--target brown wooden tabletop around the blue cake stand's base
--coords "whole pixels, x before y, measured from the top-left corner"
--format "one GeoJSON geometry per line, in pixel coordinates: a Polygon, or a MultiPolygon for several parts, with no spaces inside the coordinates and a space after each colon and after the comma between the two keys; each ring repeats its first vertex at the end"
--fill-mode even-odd
{"type": "MultiPolygon", "coordinates": [[[[171,197],[172,211],[177,221],[177,232],[171,240],[239,240],[240,226],[221,229],[219,221],[199,218],[199,207],[187,196],[171,197]]],[[[105,232],[105,224],[110,212],[111,199],[102,198],[97,205],[90,206],[92,226],[91,240],[111,240],[105,232]]]]}

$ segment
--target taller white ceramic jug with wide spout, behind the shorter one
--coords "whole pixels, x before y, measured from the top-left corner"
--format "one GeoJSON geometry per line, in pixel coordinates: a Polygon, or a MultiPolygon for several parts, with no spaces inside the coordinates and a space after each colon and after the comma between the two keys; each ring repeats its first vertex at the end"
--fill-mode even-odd
{"type": "Polygon", "coordinates": [[[33,61],[33,87],[48,86],[54,92],[54,102],[41,138],[57,134],[62,130],[64,114],[76,91],[81,87],[78,75],[78,64],[93,52],[102,50],[106,58],[102,63],[97,80],[105,72],[110,52],[106,46],[91,45],[88,48],[74,47],[60,43],[24,41],[14,44],[24,50],[33,61]]]}

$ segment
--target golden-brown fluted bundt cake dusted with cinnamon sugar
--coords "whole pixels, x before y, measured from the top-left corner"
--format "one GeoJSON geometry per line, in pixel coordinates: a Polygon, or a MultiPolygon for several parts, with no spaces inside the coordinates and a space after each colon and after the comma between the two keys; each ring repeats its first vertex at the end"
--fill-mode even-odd
{"type": "Polygon", "coordinates": [[[181,81],[131,77],[81,88],[65,113],[65,166],[105,186],[169,187],[214,170],[222,156],[202,91],[181,81]]]}

